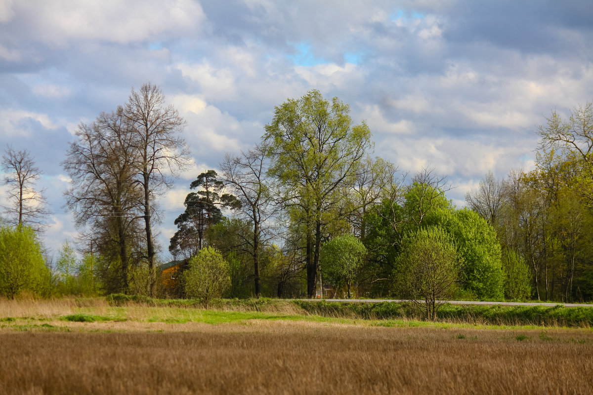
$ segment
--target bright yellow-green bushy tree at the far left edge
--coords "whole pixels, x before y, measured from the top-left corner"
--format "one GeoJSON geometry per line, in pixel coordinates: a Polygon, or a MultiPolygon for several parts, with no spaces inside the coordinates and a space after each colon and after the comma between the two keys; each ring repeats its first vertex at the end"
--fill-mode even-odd
{"type": "Polygon", "coordinates": [[[49,278],[35,231],[24,225],[0,227],[0,294],[9,298],[21,291],[43,294],[49,278]]]}

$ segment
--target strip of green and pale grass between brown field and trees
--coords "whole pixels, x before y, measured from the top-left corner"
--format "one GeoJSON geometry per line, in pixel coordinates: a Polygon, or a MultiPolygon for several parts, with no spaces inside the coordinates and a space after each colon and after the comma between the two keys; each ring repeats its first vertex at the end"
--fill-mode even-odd
{"type": "Polygon", "coordinates": [[[324,301],[216,300],[208,308],[195,300],[159,300],[113,295],[107,298],[0,300],[0,329],[49,328],[47,322],[231,323],[243,320],[304,320],[367,326],[593,327],[593,308],[471,306],[445,304],[438,322],[422,321],[412,303],[327,303],[324,301]],[[37,325],[37,326],[35,326],[37,325]]]}

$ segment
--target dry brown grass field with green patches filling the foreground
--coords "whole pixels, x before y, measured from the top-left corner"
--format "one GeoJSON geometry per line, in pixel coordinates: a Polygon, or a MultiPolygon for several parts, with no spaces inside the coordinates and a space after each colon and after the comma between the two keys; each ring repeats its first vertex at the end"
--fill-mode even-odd
{"type": "Polygon", "coordinates": [[[593,330],[0,300],[0,394],[591,393],[593,330]]]}

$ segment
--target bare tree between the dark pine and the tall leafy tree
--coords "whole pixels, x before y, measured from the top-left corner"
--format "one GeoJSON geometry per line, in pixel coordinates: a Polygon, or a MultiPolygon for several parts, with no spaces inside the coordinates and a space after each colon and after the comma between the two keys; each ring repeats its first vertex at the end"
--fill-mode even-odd
{"type": "Polygon", "coordinates": [[[246,239],[250,246],[248,253],[253,258],[256,296],[261,295],[260,290],[260,249],[264,239],[269,237],[269,227],[266,220],[272,215],[270,203],[272,195],[265,182],[267,170],[266,144],[256,145],[248,152],[241,152],[240,156],[225,156],[220,163],[225,186],[237,195],[241,208],[237,209],[244,219],[253,226],[251,235],[246,239]]]}

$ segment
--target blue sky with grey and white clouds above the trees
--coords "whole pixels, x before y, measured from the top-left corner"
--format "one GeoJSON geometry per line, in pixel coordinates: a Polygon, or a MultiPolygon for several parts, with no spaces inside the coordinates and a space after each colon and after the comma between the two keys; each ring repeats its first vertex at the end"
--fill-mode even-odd
{"type": "Polygon", "coordinates": [[[60,162],[78,125],[160,86],[194,161],[160,200],[166,261],[190,182],[259,142],[286,99],[339,97],[375,155],[447,175],[462,207],[486,172],[533,169],[551,111],[593,99],[591,43],[590,0],[0,0],[0,148],[44,171],[56,251],[77,232],[60,162]]]}

